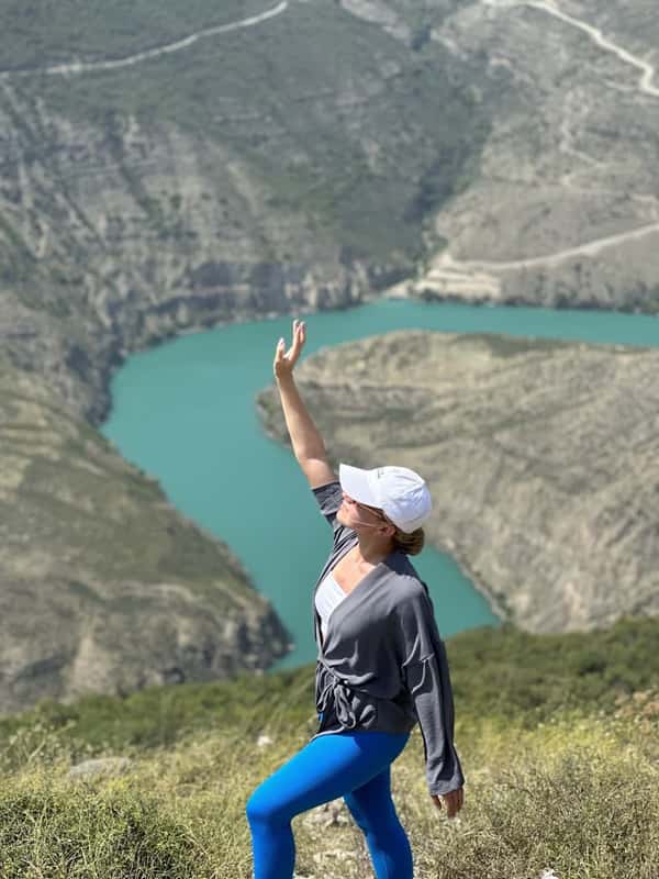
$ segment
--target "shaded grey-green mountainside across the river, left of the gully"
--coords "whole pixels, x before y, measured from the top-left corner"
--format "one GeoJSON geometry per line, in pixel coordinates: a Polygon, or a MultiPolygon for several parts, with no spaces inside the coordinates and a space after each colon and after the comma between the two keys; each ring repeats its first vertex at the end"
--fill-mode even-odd
{"type": "Polygon", "coordinates": [[[0,335],[93,423],[130,352],[413,272],[490,124],[338,4],[147,7],[0,12],[0,335]]]}

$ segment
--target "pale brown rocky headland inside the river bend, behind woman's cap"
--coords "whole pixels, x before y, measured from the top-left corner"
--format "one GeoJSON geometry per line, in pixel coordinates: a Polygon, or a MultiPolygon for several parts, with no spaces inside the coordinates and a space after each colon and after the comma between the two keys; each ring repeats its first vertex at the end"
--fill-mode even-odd
{"type": "MultiPolygon", "coordinates": [[[[659,614],[658,366],[655,351],[400,332],[297,372],[335,463],[420,471],[431,542],[495,611],[567,632],[659,614]]],[[[286,439],[272,393],[261,412],[286,439]]]]}

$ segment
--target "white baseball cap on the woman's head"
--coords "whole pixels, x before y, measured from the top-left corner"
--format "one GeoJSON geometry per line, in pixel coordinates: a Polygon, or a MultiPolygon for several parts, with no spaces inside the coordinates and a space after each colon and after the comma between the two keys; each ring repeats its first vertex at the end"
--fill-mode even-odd
{"type": "Polygon", "coordinates": [[[404,534],[420,528],[433,509],[425,481],[407,467],[362,470],[339,464],[338,481],[353,500],[382,510],[404,534]]]}

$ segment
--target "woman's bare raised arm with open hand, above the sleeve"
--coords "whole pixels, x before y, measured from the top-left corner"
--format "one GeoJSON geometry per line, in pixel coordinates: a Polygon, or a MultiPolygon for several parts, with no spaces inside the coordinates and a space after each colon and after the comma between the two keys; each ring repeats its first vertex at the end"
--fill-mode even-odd
{"type": "Polygon", "coordinates": [[[319,486],[326,486],[328,482],[335,482],[337,476],[327,461],[323,437],[302,402],[293,378],[293,369],[305,341],[306,327],[304,322],[294,320],[293,343],[286,351],[283,338],[279,340],[275,351],[272,371],[277,380],[277,389],[281,399],[286,426],[291,437],[293,454],[311,488],[317,488],[319,486]]]}

